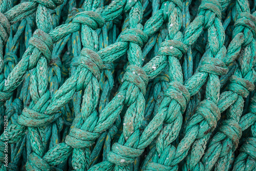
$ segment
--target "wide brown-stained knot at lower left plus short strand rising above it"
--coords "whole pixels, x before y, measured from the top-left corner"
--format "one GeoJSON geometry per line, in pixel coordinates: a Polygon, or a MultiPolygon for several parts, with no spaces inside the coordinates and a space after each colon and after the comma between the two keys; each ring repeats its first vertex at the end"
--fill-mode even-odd
{"type": "MultiPolygon", "coordinates": [[[[36,105],[39,106],[39,108],[46,108],[48,104],[50,103],[51,95],[50,92],[47,91],[42,97],[37,101],[36,105]]],[[[50,124],[55,115],[49,115],[46,113],[41,112],[41,109],[38,108],[24,108],[22,111],[22,114],[18,117],[18,123],[25,126],[31,126],[31,127],[42,127],[45,125],[50,124]]]]}

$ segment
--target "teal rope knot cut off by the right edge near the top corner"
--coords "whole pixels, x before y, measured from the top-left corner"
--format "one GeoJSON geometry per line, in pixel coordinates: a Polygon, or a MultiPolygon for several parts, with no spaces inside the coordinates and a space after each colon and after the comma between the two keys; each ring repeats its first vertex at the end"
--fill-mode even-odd
{"type": "MultiPolygon", "coordinates": [[[[242,12],[238,15],[234,27],[247,27],[253,33],[253,37],[256,37],[256,18],[248,13],[242,12]]],[[[240,28],[241,29],[241,28],[240,28]]]]}

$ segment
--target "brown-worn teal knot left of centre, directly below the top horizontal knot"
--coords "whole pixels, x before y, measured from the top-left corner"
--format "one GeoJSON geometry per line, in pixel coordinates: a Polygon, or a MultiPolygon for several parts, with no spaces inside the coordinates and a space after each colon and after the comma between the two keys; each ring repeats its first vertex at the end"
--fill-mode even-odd
{"type": "Polygon", "coordinates": [[[81,51],[79,64],[90,70],[98,80],[100,79],[100,73],[103,69],[103,62],[96,52],[88,48],[83,48],[81,51]]]}

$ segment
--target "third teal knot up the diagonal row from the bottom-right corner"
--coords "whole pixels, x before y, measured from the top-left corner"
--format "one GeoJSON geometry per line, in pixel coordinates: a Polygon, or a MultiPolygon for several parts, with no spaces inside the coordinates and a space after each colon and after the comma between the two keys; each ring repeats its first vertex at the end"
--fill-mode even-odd
{"type": "Polygon", "coordinates": [[[210,131],[213,131],[221,117],[218,106],[211,100],[203,100],[196,108],[196,112],[200,114],[209,124],[210,131]]]}

